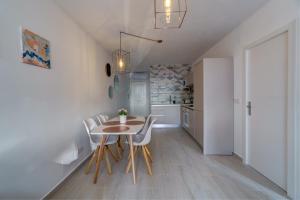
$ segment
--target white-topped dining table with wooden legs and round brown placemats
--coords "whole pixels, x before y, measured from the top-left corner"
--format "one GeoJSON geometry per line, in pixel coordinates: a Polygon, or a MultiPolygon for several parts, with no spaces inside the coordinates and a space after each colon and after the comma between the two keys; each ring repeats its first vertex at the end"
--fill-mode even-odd
{"type": "Polygon", "coordinates": [[[104,156],[105,142],[109,136],[113,136],[113,135],[119,135],[119,136],[124,135],[127,136],[129,140],[128,142],[130,146],[133,184],[136,183],[136,171],[135,171],[135,163],[134,163],[132,137],[133,135],[138,134],[143,129],[144,124],[145,124],[145,117],[141,117],[141,116],[127,116],[126,123],[124,124],[120,123],[119,117],[114,117],[91,131],[91,135],[102,136],[100,138],[100,150],[98,152],[98,158],[96,161],[96,172],[94,175],[94,183],[97,183],[101,160],[104,156]]]}

